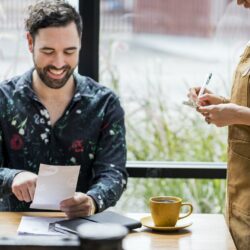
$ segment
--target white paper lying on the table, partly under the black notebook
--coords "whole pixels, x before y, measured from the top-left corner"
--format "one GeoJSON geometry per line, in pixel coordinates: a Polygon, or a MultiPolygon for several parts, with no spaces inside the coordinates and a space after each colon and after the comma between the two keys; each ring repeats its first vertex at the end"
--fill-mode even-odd
{"type": "Polygon", "coordinates": [[[63,235],[50,227],[50,223],[60,220],[65,220],[65,218],[22,216],[17,232],[19,235],[63,235]]]}

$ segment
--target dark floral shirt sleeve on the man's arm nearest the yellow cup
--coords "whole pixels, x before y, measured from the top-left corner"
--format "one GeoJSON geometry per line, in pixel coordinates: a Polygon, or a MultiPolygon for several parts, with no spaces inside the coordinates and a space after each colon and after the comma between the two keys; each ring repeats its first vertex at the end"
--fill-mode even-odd
{"type": "Polygon", "coordinates": [[[124,111],[113,97],[105,111],[93,164],[93,185],[87,192],[96,202],[97,212],[114,206],[126,188],[126,140],[124,111]]]}

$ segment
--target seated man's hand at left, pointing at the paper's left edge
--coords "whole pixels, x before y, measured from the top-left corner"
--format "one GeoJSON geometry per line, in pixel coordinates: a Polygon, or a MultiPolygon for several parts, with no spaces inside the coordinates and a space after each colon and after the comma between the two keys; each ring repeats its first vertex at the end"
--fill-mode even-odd
{"type": "Polygon", "coordinates": [[[19,201],[30,202],[34,198],[37,175],[31,172],[21,172],[12,182],[12,192],[19,201]]]}

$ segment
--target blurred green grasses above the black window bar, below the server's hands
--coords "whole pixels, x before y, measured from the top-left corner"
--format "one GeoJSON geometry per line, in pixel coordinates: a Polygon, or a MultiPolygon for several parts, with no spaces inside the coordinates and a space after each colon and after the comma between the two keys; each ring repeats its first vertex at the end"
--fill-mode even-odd
{"type": "Polygon", "coordinates": [[[207,125],[187,109],[180,107],[171,116],[163,102],[150,103],[140,115],[127,117],[129,160],[225,161],[226,129],[207,125]]]}

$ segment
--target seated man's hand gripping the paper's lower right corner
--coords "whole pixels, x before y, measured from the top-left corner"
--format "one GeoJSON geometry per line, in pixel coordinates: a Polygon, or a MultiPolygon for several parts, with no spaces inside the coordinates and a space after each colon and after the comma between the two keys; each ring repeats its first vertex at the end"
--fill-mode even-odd
{"type": "Polygon", "coordinates": [[[60,203],[60,209],[69,218],[92,215],[96,210],[94,200],[90,196],[80,192],[75,193],[72,198],[63,200],[60,203]]]}

